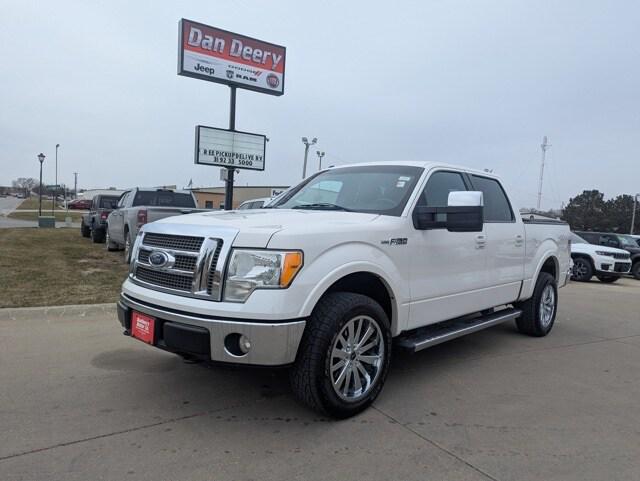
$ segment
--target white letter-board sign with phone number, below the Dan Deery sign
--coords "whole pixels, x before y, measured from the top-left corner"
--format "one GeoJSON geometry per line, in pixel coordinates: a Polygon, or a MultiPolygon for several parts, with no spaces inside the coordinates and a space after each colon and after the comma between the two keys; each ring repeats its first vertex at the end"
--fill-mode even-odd
{"type": "Polygon", "coordinates": [[[196,126],[196,164],[264,170],[267,138],[215,127],[196,126]]]}

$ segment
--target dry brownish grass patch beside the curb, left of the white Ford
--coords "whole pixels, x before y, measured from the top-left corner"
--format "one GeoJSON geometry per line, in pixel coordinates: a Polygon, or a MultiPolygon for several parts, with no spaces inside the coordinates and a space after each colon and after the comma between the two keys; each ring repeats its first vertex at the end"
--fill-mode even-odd
{"type": "Polygon", "coordinates": [[[78,229],[0,229],[0,307],[116,302],[127,270],[78,229]]]}

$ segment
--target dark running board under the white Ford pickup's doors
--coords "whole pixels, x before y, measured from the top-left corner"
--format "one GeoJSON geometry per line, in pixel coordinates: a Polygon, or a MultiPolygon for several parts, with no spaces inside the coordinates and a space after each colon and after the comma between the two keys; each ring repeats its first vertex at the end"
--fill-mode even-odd
{"type": "Polygon", "coordinates": [[[472,332],[481,331],[491,326],[511,321],[522,314],[520,309],[503,309],[486,316],[469,316],[439,322],[431,326],[418,329],[407,337],[401,337],[397,345],[409,351],[416,352],[437,344],[441,344],[456,337],[465,336],[472,332]]]}

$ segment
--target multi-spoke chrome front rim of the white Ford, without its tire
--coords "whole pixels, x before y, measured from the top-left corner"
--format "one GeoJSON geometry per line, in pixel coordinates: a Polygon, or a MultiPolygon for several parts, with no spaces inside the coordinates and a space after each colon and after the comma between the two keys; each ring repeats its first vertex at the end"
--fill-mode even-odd
{"type": "Polygon", "coordinates": [[[329,372],[340,399],[355,402],[366,396],[384,363],[384,337],[369,316],[349,320],[331,346],[329,372]]]}

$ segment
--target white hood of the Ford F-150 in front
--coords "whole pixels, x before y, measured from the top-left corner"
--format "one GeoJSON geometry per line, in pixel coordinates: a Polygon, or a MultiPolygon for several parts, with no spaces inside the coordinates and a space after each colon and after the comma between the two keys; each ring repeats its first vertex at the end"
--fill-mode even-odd
{"type": "MultiPolygon", "coordinates": [[[[210,227],[215,235],[216,226],[237,229],[233,243],[236,247],[267,247],[269,239],[287,228],[317,228],[322,231],[369,223],[378,214],[304,209],[251,209],[231,211],[199,212],[195,214],[167,217],[154,224],[193,225],[210,227]]],[[[178,227],[179,229],[179,227],[178,227]]]]}

